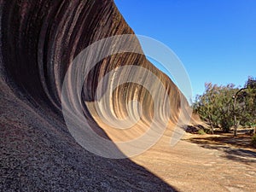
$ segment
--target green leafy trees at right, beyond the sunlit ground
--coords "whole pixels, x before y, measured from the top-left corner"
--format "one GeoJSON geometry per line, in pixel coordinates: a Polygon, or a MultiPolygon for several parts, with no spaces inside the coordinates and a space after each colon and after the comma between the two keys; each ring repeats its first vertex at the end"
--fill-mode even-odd
{"type": "Polygon", "coordinates": [[[256,124],[256,79],[248,78],[242,89],[234,84],[218,86],[212,83],[205,84],[205,88],[202,96],[196,96],[193,109],[212,130],[221,127],[225,132],[230,131],[235,125],[235,115],[241,125],[256,124]]]}

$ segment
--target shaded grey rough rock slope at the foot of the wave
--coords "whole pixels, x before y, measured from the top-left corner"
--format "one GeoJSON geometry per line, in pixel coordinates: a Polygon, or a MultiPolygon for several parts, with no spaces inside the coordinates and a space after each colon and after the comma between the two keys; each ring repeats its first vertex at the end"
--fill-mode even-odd
{"type": "Polygon", "coordinates": [[[34,108],[3,82],[1,90],[1,191],[173,191],[129,159],[90,154],[55,113],[34,108]]]}

